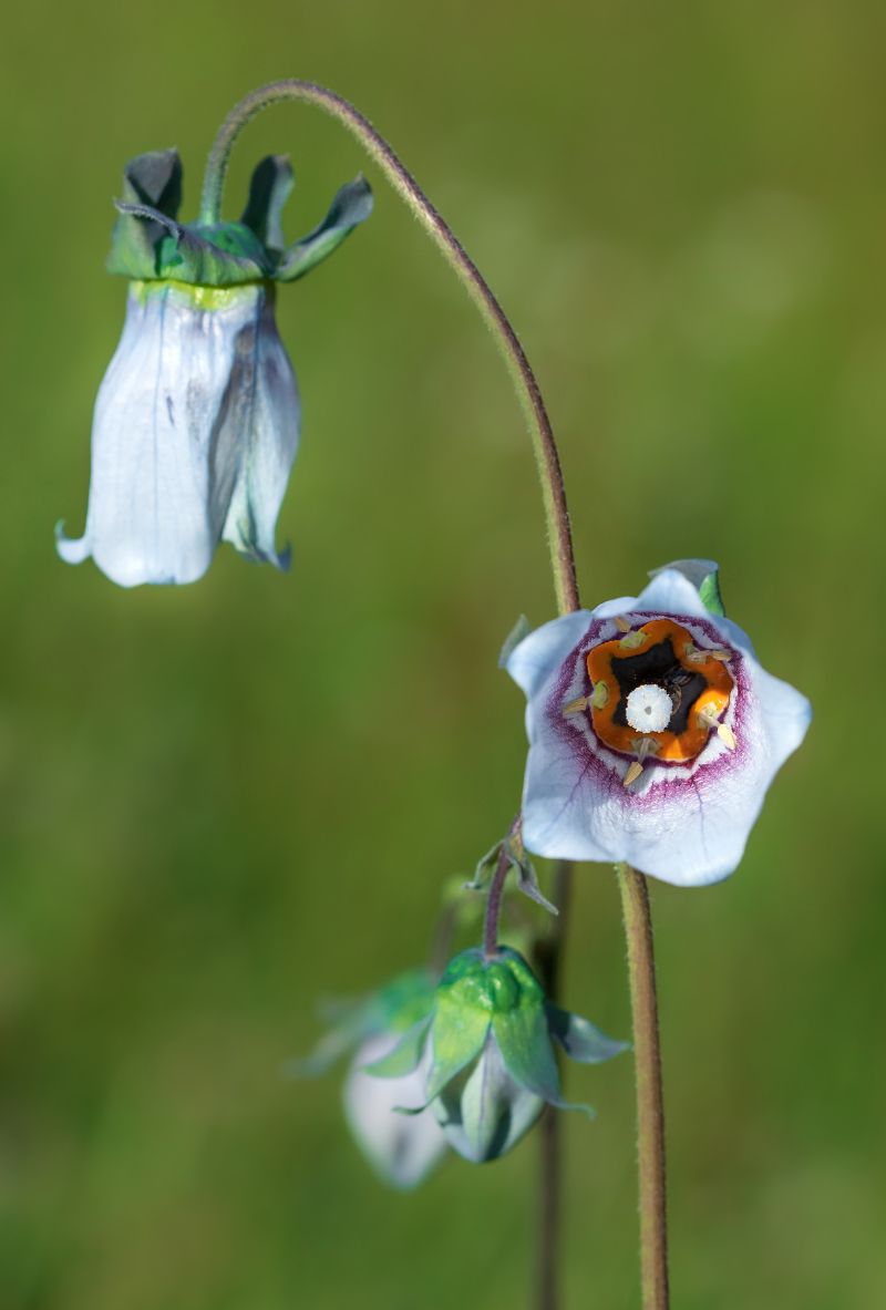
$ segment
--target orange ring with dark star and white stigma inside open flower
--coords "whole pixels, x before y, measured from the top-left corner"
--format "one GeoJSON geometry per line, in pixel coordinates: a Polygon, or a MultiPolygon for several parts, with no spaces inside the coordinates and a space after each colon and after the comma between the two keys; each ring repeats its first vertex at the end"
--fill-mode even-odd
{"type": "Polygon", "coordinates": [[[654,618],[620,641],[595,646],[587,655],[587,671],[594,683],[588,707],[600,740],[613,751],[641,757],[651,753],[657,760],[699,755],[735,685],[723,659],[697,648],[692,633],[671,618],[654,618]],[[642,693],[632,697],[640,688],[642,693]],[[659,732],[645,732],[636,726],[644,713],[653,715],[653,723],[661,718],[657,688],[671,701],[670,720],[659,732]]]}

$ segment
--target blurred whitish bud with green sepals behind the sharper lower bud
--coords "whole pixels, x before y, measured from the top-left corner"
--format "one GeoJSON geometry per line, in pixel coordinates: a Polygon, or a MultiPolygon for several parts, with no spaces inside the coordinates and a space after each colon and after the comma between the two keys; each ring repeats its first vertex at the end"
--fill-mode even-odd
{"type": "Polygon", "coordinates": [[[364,1066],[388,1056],[402,1034],[430,1013],[434,981],[426,969],[410,969],[362,1001],[334,1007],[330,1031],[307,1060],[290,1066],[298,1077],[317,1076],[355,1049],[342,1089],[345,1119],[376,1174],[402,1191],[417,1187],[447,1150],[430,1111],[397,1114],[400,1106],[425,1103],[426,1068],[419,1064],[400,1078],[383,1079],[364,1066]]]}

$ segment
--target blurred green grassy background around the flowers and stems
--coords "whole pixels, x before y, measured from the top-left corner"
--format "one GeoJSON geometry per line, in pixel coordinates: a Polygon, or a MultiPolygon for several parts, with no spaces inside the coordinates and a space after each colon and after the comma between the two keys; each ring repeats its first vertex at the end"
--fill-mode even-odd
{"type": "MultiPolygon", "coordinates": [[[[123,164],[177,145],[194,217],[227,110],[300,76],[388,136],[512,316],[586,604],[713,557],[815,705],[734,878],[653,886],[674,1300],[879,1310],[886,12],[31,0],[3,31],[0,1307],[528,1300],[536,1141],[393,1195],[339,1076],[279,1074],[318,994],[422,959],[440,884],[510,821],[523,697],[495,658],[553,614],[505,371],[371,166],[371,221],[279,296],[291,574],[223,546],[195,586],[126,592],[52,545],[83,527],[122,326],[123,164]]],[[[271,151],[290,237],[366,166],[320,113],[270,110],[229,216],[271,151]]],[[[578,871],[565,1000],[628,1035],[608,867],[578,871]]],[[[569,1070],[598,1119],[566,1124],[568,1310],[640,1303],[632,1078],[569,1070]]]]}

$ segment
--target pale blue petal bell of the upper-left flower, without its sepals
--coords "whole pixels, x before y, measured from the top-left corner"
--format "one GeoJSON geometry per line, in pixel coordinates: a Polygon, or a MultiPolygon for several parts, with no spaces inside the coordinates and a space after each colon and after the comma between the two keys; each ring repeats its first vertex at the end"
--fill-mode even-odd
{"type": "Polygon", "coordinates": [[[59,528],[59,554],[122,587],[195,582],[220,538],[286,569],[274,529],[299,419],[273,283],[132,282],[96,400],[87,529],[59,528]]]}

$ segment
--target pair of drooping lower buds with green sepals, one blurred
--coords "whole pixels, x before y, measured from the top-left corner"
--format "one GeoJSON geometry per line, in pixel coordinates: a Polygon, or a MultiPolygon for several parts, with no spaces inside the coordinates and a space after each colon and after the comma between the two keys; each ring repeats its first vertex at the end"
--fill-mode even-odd
{"type": "Polygon", "coordinates": [[[298,1072],[320,1073],[356,1045],[345,1083],[351,1131],[387,1182],[414,1187],[447,1145],[473,1163],[498,1159],[545,1103],[592,1114],[562,1099],[554,1043],[581,1064],[626,1049],[550,1002],[518,951],[476,947],[433,992],[417,971],[370,997],[298,1072]]]}

